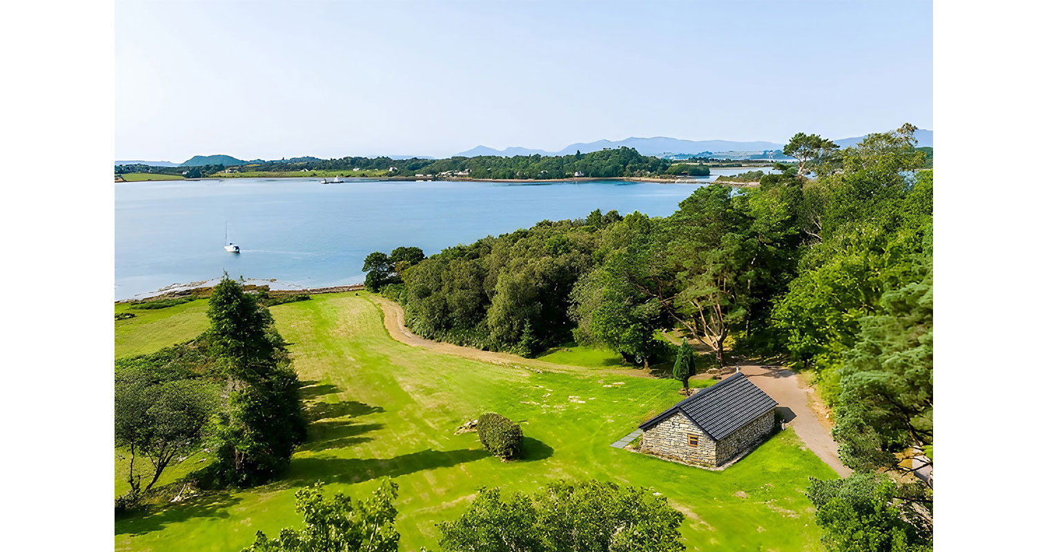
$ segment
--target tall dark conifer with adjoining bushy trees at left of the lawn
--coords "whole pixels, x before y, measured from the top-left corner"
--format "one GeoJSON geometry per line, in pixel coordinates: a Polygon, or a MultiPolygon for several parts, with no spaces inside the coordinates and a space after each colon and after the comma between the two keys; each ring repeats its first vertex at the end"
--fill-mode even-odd
{"type": "Polygon", "coordinates": [[[263,483],[286,467],[306,421],[298,376],[265,299],[223,277],[204,334],[116,361],[115,438],[131,464],[131,490],[121,504],[133,504],[165,468],[202,446],[214,462],[201,477],[219,485],[263,483]],[[140,457],[153,467],[145,488],[134,467],[140,457]]]}

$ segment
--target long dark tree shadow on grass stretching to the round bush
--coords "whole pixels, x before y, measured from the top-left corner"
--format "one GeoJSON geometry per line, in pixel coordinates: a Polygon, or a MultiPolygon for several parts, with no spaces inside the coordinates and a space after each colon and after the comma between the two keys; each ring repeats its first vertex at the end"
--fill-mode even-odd
{"type": "Polygon", "coordinates": [[[304,487],[324,483],[360,483],[377,477],[398,477],[416,471],[448,468],[491,454],[484,449],[421,450],[391,459],[298,458],[278,483],[281,487],[304,487]]]}

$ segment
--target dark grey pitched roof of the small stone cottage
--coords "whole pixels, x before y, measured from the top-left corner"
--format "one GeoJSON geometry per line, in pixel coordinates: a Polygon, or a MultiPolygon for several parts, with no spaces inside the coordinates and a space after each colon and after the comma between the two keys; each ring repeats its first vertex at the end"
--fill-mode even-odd
{"type": "Polygon", "coordinates": [[[638,427],[648,429],[673,416],[675,412],[681,412],[711,439],[721,441],[775,405],[774,399],[757,388],[743,373],[736,373],[667,408],[638,427]]]}

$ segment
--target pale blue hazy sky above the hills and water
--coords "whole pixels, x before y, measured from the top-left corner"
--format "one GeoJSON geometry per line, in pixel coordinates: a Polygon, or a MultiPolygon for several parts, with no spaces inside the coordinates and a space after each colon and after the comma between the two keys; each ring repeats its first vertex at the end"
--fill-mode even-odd
{"type": "Polygon", "coordinates": [[[116,2],[115,158],[933,129],[930,1],[116,2]]]}

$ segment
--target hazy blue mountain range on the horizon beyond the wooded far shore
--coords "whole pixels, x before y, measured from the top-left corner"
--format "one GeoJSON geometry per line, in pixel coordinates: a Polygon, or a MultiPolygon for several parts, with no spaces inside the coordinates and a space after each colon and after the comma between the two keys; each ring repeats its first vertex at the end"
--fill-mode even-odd
{"type": "MultiPolygon", "coordinates": [[[[915,132],[915,137],[918,139],[918,146],[933,146],[933,131],[919,129],[915,132]]],[[[858,144],[863,140],[863,136],[848,137],[835,140],[834,143],[847,148],[858,144]]],[[[577,144],[572,144],[565,146],[559,151],[545,151],[541,149],[530,149],[521,147],[510,147],[501,150],[495,148],[490,148],[488,146],[477,146],[473,149],[462,151],[456,153],[454,156],[463,157],[475,157],[477,155],[498,155],[501,157],[508,157],[513,155],[534,155],[536,153],[540,155],[571,155],[576,151],[581,153],[590,153],[592,151],[600,151],[604,148],[621,148],[621,147],[634,148],[638,150],[638,153],[642,155],[669,155],[675,153],[720,153],[728,151],[775,151],[784,147],[783,144],[775,142],[733,142],[729,140],[679,140],[665,136],[655,136],[655,137],[628,137],[626,140],[608,141],[599,140],[597,142],[580,142],[577,144]]]]}

